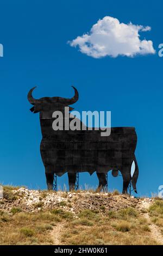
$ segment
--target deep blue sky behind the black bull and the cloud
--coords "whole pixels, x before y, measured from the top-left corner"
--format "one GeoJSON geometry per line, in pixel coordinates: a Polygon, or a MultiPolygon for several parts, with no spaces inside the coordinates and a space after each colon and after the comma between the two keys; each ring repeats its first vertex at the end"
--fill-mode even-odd
{"type": "MultiPolygon", "coordinates": [[[[137,191],[157,192],[163,184],[162,1],[1,0],[0,5],[0,181],[46,188],[39,114],[29,111],[27,93],[37,85],[35,97],[71,97],[73,84],[80,96],[75,110],[111,111],[112,126],[136,127],[137,191]],[[140,35],[153,41],[156,53],[97,59],[67,44],[105,16],[150,26],[140,35]]],[[[58,179],[64,183],[67,175],[58,179]]],[[[80,174],[80,185],[85,183],[96,186],[96,174],[80,174]]],[[[121,177],[109,173],[109,188],[121,191],[121,177]]]]}

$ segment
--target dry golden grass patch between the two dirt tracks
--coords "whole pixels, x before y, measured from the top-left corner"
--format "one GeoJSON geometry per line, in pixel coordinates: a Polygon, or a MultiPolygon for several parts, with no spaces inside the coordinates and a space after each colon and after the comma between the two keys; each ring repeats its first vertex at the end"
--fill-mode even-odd
{"type": "Polygon", "coordinates": [[[145,218],[133,209],[109,211],[101,217],[91,210],[84,210],[79,219],[65,225],[61,242],[65,245],[156,245],[151,239],[145,218]]]}

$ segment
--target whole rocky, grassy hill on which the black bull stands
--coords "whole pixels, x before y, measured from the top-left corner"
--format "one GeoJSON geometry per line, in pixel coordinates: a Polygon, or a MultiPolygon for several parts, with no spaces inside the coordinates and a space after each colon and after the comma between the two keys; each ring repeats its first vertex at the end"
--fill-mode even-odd
{"type": "Polygon", "coordinates": [[[163,245],[163,201],[4,186],[0,244],[163,245]]]}

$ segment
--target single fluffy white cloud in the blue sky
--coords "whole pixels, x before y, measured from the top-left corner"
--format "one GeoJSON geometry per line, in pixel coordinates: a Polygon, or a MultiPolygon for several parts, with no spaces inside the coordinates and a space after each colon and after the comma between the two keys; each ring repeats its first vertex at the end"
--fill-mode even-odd
{"type": "Polygon", "coordinates": [[[73,47],[79,47],[80,52],[93,58],[105,56],[133,57],[136,54],[154,54],[151,40],[140,40],[139,32],[151,31],[151,27],[120,23],[118,19],[105,16],[92,26],[90,33],[77,36],[68,41],[73,47]]]}

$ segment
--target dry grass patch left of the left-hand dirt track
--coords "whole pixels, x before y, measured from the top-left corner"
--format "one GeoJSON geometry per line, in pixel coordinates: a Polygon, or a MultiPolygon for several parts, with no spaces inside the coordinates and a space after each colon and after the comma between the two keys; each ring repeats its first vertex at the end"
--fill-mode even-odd
{"type": "Polygon", "coordinates": [[[49,231],[60,222],[59,216],[50,212],[8,214],[0,211],[1,245],[51,245],[49,231]]]}

